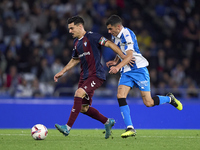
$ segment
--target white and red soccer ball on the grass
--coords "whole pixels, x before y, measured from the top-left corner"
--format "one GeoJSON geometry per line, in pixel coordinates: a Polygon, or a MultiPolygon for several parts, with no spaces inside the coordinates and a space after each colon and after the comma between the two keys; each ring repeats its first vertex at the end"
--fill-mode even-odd
{"type": "Polygon", "coordinates": [[[36,124],[31,129],[31,136],[35,140],[44,140],[48,135],[48,130],[43,124],[36,124]]]}

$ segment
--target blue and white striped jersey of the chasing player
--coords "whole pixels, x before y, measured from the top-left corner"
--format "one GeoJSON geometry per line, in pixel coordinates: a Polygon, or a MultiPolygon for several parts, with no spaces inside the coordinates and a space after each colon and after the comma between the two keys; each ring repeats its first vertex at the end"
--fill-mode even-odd
{"type": "MultiPolygon", "coordinates": [[[[112,41],[122,50],[125,55],[127,50],[132,50],[133,56],[136,59],[133,67],[130,65],[125,65],[121,68],[121,73],[149,65],[149,62],[140,53],[135,33],[129,28],[124,27],[117,37],[112,36],[112,41]]],[[[119,55],[118,57],[120,58],[119,55]]]]}

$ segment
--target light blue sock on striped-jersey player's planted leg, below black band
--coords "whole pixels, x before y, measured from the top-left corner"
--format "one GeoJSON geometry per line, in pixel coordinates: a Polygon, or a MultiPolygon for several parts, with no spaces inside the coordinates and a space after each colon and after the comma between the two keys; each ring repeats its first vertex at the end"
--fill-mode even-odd
{"type": "Polygon", "coordinates": [[[124,119],[124,123],[126,126],[133,126],[131,115],[130,115],[130,108],[128,105],[120,106],[120,111],[122,118],[124,119]]]}

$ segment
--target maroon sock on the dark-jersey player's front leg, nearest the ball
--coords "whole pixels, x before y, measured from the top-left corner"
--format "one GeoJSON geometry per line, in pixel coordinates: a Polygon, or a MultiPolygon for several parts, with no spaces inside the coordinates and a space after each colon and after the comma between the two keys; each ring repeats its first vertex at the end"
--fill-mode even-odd
{"type": "Polygon", "coordinates": [[[82,105],[82,98],[80,97],[74,97],[74,106],[72,107],[67,125],[72,127],[74,122],[76,121],[76,118],[78,117],[78,114],[81,110],[82,105]]]}

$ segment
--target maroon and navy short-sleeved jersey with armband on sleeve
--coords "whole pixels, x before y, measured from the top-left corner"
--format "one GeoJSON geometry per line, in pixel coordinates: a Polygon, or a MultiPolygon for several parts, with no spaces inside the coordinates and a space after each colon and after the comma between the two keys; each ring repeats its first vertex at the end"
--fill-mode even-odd
{"type": "Polygon", "coordinates": [[[101,46],[107,39],[98,33],[87,32],[81,39],[74,40],[72,58],[80,59],[80,79],[97,76],[105,80],[106,75],[101,64],[101,46]]]}

